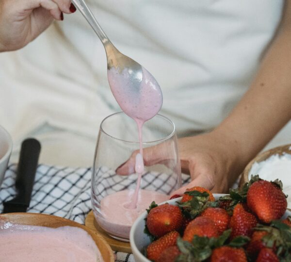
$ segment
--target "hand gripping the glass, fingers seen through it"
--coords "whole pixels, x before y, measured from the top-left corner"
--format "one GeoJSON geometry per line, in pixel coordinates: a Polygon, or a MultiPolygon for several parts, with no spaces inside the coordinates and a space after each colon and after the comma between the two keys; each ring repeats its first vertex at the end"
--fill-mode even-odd
{"type": "MultiPolygon", "coordinates": [[[[160,145],[159,145],[160,146],[160,145]]],[[[162,146],[144,148],[145,165],[169,163],[165,159],[162,146]]],[[[234,150],[235,143],[226,142],[223,137],[212,131],[207,134],[184,137],[178,140],[179,157],[183,173],[190,174],[191,182],[178,189],[173,195],[183,194],[187,188],[202,186],[214,193],[226,193],[237,179],[243,166],[237,161],[239,150],[234,150]]],[[[133,152],[129,160],[116,169],[119,175],[134,172],[135,156],[133,152]]]]}

